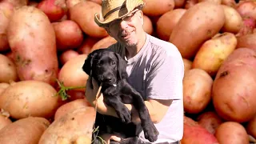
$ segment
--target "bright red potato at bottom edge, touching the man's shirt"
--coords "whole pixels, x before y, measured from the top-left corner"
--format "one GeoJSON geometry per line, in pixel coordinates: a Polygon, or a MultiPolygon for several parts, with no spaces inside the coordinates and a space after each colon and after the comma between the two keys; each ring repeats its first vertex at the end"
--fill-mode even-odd
{"type": "Polygon", "coordinates": [[[210,134],[198,122],[184,116],[184,132],[181,140],[182,144],[218,144],[214,134],[210,134]]]}

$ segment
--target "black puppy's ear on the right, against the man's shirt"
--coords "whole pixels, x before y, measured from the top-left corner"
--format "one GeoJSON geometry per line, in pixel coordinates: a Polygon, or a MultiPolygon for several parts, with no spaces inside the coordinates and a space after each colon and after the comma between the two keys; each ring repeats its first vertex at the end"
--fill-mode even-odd
{"type": "Polygon", "coordinates": [[[116,54],[116,53],[114,53],[114,54],[118,58],[118,63],[117,63],[118,79],[122,79],[126,75],[126,65],[127,65],[127,63],[119,54],[116,54]]]}

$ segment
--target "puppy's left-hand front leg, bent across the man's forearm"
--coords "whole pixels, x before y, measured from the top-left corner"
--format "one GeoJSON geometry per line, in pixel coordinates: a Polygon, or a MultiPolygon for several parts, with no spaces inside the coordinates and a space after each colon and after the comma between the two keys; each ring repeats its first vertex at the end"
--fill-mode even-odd
{"type": "Polygon", "coordinates": [[[122,122],[129,123],[131,119],[130,110],[121,102],[119,97],[107,95],[104,95],[104,97],[104,102],[114,108],[118,117],[121,118],[122,122]]]}

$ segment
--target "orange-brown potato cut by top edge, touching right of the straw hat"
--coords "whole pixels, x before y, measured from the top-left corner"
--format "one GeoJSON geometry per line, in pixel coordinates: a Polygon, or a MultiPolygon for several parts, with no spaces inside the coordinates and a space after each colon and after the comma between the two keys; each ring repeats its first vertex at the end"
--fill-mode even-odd
{"type": "Polygon", "coordinates": [[[159,16],[167,11],[174,10],[174,0],[144,0],[146,6],[142,9],[147,16],[159,16]]]}

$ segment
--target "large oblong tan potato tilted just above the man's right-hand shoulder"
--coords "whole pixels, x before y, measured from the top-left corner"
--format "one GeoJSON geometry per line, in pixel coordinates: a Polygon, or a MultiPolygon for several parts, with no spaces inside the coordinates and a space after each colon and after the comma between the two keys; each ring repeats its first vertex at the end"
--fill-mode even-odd
{"type": "Polygon", "coordinates": [[[224,10],[214,2],[198,2],[186,10],[178,21],[169,42],[178,47],[182,58],[193,58],[203,42],[221,30],[225,22],[224,10]]]}

